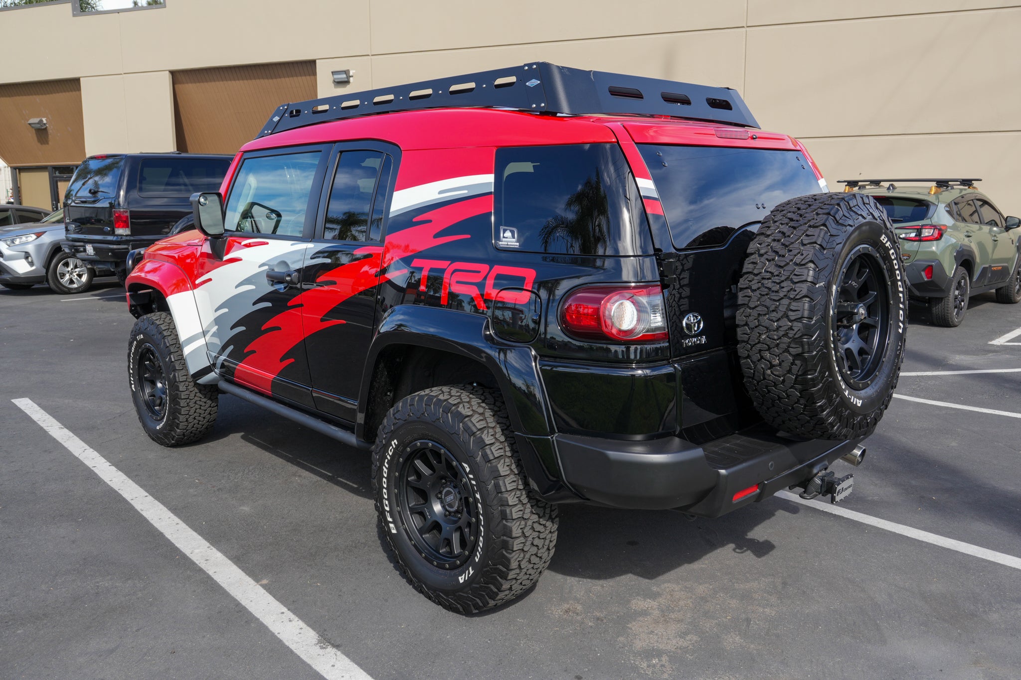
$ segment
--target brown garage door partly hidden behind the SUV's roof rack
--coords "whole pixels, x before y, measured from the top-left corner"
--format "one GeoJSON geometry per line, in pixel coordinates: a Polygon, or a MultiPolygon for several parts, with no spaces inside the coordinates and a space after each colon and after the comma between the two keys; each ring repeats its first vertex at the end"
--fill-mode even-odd
{"type": "Polygon", "coordinates": [[[314,61],[175,71],[178,150],[233,154],[277,106],[314,98],[314,61]]]}

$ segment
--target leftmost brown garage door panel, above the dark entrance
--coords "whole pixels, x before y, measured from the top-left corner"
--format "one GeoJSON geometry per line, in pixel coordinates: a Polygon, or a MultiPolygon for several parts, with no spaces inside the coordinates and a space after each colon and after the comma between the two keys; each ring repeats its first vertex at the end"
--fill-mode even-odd
{"type": "Polygon", "coordinates": [[[0,158],[8,165],[81,163],[85,134],[78,79],[0,85],[0,158]],[[30,127],[32,118],[46,118],[46,128],[30,127]]]}

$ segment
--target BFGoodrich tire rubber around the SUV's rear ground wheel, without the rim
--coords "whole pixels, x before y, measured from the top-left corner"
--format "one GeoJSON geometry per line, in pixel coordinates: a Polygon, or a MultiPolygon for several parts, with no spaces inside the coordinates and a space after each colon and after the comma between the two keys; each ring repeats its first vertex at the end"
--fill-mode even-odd
{"type": "Polygon", "coordinates": [[[381,533],[387,537],[394,566],[416,590],[451,612],[475,614],[519,597],[553,557],[556,506],[539,499],[529,486],[503,400],[493,389],[431,387],[398,402],[380,424],[373,449],[373,488],[381,533]],[[464,592],[438,592],[419,581],[384,526],[379,474],[386,443],[401,425],[422,420],[432,421],[461,443],[480,471],[477,481],[485,503],[499,508],[500,519],[487,528],[488,540],[497,541],[498,550],[488,550],[489,564],[464,592]]]}

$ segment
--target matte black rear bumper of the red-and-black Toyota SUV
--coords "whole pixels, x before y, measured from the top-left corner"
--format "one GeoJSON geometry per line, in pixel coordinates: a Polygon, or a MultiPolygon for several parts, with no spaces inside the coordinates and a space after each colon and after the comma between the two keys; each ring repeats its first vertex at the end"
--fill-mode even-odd
{"type": "Polygon", "coordinates": [[[674,436],[621,441],[557,434],[555,439],[564,480],[586,500],[702,517],[719,517],[805,482],[862,441],[790,439],[762,424],[701,446],[674,436]],[[733,501],[751,486],[758,490],[733,501]]]}

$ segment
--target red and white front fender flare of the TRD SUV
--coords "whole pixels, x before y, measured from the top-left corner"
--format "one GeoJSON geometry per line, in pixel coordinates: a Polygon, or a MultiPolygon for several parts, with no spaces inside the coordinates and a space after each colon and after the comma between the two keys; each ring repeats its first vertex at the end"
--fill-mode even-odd
{"type": "Polygon", "coordinates": [[[209,363],[209,349],[205,344],[195,293],[184,270],[165,260],[142,260],[128,276],[126,285],[128,304],[132,307],[144,303],[147,292],[155,292],[166,301],[188,372],[203,384],[215,383],[217,378],[209,363]]]}

